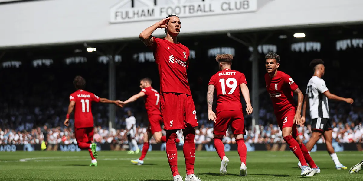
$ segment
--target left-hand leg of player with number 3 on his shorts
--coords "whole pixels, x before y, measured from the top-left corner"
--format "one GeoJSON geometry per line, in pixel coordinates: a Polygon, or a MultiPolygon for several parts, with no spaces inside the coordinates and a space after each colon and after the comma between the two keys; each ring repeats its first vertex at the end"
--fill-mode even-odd
{"type": "Polygon", "coordinates": [[[301,176],[306,176],[310,172],[312,172],[311,168],[307,165],[305,161],[305,157],[301,151],[301,148],[297,141],[293,138],[293,121],[294,121],[295,111],[289,111],[286,115],[279,117],[278,125],[280,129],[282,128],[282,137],[285,142],[289,145],[290,150],[294,153],[294,155],[299,159],[301,163],[301,176]]]}

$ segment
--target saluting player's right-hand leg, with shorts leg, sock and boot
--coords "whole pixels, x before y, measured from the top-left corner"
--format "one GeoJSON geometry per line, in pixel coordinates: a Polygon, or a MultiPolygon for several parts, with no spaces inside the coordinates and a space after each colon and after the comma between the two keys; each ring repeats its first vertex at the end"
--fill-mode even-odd
{"type": "Polygon", "coordinates": [[[185,169],[187,176],[185,176],[185,181],[200,181],[200,178],[194,174],[194,163],[195,163],[195,129],[198,126],[197,113],[195,111],[194,101],[192,96],[187,96],[186,94],[181,94],[181,98],[184,101],[184,115],[185,129],[183,130],[184,136],[184,159],[185,159],[185,169]]]}

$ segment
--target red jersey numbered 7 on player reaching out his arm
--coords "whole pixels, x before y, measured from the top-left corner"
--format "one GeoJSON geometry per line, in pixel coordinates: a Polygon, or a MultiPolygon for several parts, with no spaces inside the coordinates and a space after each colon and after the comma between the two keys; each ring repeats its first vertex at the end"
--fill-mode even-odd
{"type": "Polygon", "coordinates": [[[148,115],[159,114],[160,112],[160,95],[159,92],[152,87],[147,87],[141,90],[145,93],[145,109],[148,115]]]}

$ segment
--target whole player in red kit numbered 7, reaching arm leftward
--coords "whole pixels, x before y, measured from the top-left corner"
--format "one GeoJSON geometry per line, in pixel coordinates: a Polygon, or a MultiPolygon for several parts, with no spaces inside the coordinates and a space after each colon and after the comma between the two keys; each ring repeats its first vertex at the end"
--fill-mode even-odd
{"type": "MultiPolygon", "coordinates": [[[[121,101],[121,105],[125,106],[130,102],[136,101],[140,97],[144,97],[145,109],[147,111],[149,126],[147,129],[147,135],[144,136],[144,146],[142,148],[142,154],[139,159],[131,160],[131,163],[142,165],[144,164],[144,158],[146,156],[147,150],[149,149],[149,140],[151,136],[154,136],[156,143],[166,142],[166,136],[162,135],[161,123],[162,117],[160,112],[160,94],[157,90],[151,87],[152,81],[150,78],[146,77],[140,80],[141,91],[138,94],[131,96],[126,101],[121,101]]],[[[176,139],[176,143],[180,140],[176,139]]]]}

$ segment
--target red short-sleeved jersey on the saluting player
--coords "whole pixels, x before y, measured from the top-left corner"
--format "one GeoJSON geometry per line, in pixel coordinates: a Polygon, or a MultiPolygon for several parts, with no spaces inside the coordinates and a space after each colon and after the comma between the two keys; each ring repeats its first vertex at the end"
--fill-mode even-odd
{"type": "Polygon", "coordinates": [[[155,38],[151,45],[160,74],[160,92],[175,92],[192,95],[187,69],[189,49],[168,40],[155,38]]]}

